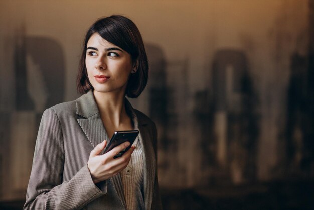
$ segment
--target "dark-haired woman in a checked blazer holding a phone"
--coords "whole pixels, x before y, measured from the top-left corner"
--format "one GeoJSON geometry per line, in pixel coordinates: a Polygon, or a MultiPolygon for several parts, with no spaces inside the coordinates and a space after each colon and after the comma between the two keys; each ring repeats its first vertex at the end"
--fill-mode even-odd
{"type": "Polygon", "coordinates": [[[113,15],[88,30],[75,101],[47,109],[36,141],[24,209],[161,209],[156,173],[156,126],[125,98],[147,83],[141,35],[113,15]],[[133,145],[103,154],[118,130],[139,130],[133,145]]]}

